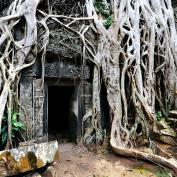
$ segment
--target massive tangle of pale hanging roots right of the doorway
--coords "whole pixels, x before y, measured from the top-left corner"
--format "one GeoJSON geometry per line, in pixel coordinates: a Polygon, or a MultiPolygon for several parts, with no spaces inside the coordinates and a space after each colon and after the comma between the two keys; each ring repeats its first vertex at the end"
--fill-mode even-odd
{"type": "Polygon", "coordinates": [[[96,57],[111,111],[111,146],[117,154],[161,163],[177,173],[175,159],[133,148],[144,144],[153,150],[150,134],[159,131],[156,111],[165,114],[166,107],[177,106],[177,35],[171,1],[101,2],[112,13],[108,30],[103,26],[105,15],[95,10],[93,0],[87,0],[87,12],[94,15],[100,34],[96,57]]]}

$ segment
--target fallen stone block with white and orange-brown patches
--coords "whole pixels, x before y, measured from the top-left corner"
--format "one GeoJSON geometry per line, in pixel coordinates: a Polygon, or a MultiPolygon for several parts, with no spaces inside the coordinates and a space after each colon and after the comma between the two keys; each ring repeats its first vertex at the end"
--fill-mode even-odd
{"type": "Polygon", "coordinates": [[[57,141],[0,152],[0,176],[12,176],[42,168],[59,160],[57,141]]]}

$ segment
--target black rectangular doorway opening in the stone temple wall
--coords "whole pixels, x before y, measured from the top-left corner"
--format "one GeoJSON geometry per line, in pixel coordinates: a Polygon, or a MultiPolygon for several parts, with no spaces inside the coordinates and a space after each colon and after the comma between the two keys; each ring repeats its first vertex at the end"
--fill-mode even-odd
{"type": "Polygon", "coordinates": [[[77,128],[72,120],[74,86],[48,87],[48,139],[59,143],[74,142],[77,128]],[[73,131],[75,131],[73,133],[73,131]],[[75,135],[75,136],[74,136],[75,135]]]}

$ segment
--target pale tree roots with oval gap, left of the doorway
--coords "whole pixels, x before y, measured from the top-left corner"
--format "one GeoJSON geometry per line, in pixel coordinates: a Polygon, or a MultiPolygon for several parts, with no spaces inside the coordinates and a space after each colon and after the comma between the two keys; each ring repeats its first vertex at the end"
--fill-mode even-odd
{"type": "MultiPolygon", "coordinates": [[[[0,18],[0,29],[3,34],[0,37],[0,47],[5,40],[8,40],[8,45],[4,51],[3,57],[0,58],[0,68],[2,73],[2,92],[0,95],[0,132],[2,117],[7,104],[8,97],[11,97],[11,86],[14,84],[19,72],[25,67],[29,67],[34,63],[25,64],[28,54],[37,40],[37,26],[36,26],[36,8],[40,0],[26,0],[24,2],[15,0],[8,11],[8,16],[0,18]],[[20,17],[24,16],[26,20],[26,35],[22,41],[14,41],[11,34],[11,28],[17,23],[20,17]],[[7,23],[11,20],[9,23],[7,23]],[[13,21],[14,20],[14,21],[13,21]],[[17,52],[13,52],[10,48],[11,44],[14,44],[18,49],[17,52]],[[12,53],[12,56],[10,54],[12,53]],[[6,66],[8,63],[8,67],[6,66]]],[[[11,100],[11,99],[10,99],[11,100]]],[[[11,105],[11,103],[9,103],[11,105]]],[[[12,107],[10,106],[10,109],[12,107]]],[[[11,110],[9,111],[11,114],[11,110]]],[[[9,122],[11,115],[9,115],[9,122]]],[[[9,129],[10,129],[9,125],[9,129]]],[[[9,130],[10,132],[11,130],[9,130]]],[[[9,136],[11,138],[11,136],[9,136]]]]}

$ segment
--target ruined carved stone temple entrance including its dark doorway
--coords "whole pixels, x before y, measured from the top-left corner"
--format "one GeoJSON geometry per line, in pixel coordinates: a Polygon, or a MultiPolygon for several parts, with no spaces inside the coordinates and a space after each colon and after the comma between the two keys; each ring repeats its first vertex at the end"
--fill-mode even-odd
{"type": "Polygon", "coordinates": [[[50,134],[59,133],[76,142],[82,134],[83,115],[91,106],[91,70],[89,65],[82,67],[79,56],[58,48],[56,41],[51,40],[47,47],[44,70],[37,59],[22,73],[21,121],[28,139],[47,141],[51,140],[50,134]]]}

